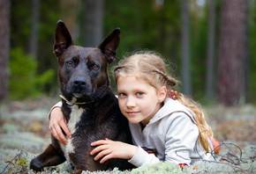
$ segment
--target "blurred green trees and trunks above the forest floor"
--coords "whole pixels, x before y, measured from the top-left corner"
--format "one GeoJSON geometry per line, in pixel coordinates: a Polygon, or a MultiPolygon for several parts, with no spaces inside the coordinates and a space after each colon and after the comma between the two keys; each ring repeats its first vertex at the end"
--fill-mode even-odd
{"type": "Polygon", "coordinates": [[[0,101],[57,96],[52,46],[62,19],[75,44],[86,47],[96,47],[120,27],[115,63],[127,52],[157,51],[182,82],[177,91],[204,104],[256,103],[255,0],[2,0],[0,5],[0,101]]]}

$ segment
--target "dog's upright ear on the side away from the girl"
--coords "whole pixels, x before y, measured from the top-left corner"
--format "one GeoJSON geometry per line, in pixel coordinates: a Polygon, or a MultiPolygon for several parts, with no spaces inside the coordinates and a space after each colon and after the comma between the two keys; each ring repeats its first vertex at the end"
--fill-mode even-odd
{"type": "Polygon", "coordinates": [[[53,53],[56,57],[64,53],[64,50],[73,45],[72,36],[62,20],[57,21],[55,32],[55,43],[53,53]]]}

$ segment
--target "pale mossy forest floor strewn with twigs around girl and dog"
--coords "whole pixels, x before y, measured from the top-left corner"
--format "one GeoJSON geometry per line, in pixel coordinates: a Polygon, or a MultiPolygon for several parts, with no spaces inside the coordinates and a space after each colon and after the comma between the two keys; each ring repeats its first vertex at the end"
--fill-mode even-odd
{"type": "MultiPolygon", "coordinates": [[[[48,113],[56,101],[56,98],[26,99],[0,105],[0,174],[33,173],[32,170],[28,170],[31,159],[50,143],[48,113]]],[[[242,105],[227,108],[214,105],[205,109],[208,123],[215,132],[215,138],[222,142],[220,156],[216,157],[218,160],[213,163],[195,163],[183,171],[176,168],[161,170],[169,170],[173,173],[177,173],[176,170],[181,173],[234,173],[234,171],[255,173],[256,106],[242,105]],[[227,169],[220,168],[219,165],[223,163],[228,167],[227,169]]],[[[139,171],[132,171],[146,173],[145,170],[141,168],[139,171]]],[[[155,170],[160,169],[150,170],[154,170],[155,173],[155,170]]],[[[41,173],[72,173],[72,171],[69,165],[64,163],[60,167],[49,168],[41,173]]],[[[111,171],[111,173],[120,172],[111,171]]]]}

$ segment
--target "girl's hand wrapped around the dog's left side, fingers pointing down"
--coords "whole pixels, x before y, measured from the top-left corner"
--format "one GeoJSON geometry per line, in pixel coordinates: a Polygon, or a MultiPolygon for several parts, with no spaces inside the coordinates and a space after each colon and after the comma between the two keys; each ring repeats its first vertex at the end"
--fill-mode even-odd
{"type": "Polygon", "coordinates": [[[55,107],[50,112],[49,129],[51,134],[56,138],[56,140],[60,141],[63,144],[67,143],[67,139],[65,138],[62,129],[69,138],[72,138],[72,134],[67,127],[66,120],[64,120],[64,115],[60,107],[55,107]]]}

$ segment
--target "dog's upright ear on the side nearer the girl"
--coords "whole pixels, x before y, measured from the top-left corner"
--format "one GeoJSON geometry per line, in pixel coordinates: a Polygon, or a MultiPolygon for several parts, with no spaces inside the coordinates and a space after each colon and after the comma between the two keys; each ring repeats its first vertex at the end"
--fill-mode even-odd
{"type": "Polygon", "coordinates": [[[120,42],[120,28],[116,28],[109,34],[98,46],[102,50],[102,54],[107,59],[107,62],[111,63],[116,59],[117,47],[120,42]]]}

